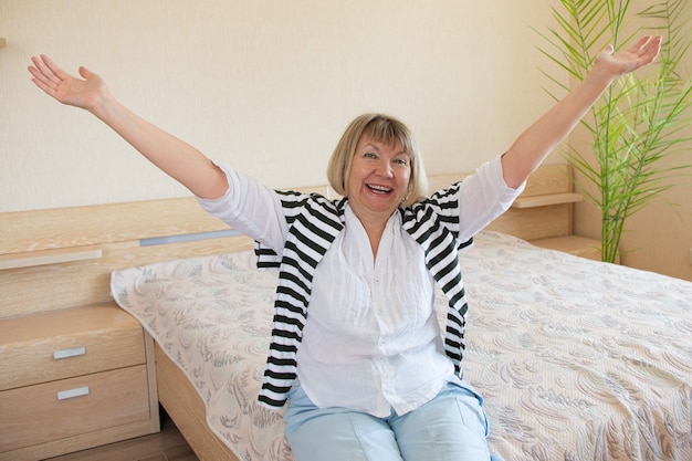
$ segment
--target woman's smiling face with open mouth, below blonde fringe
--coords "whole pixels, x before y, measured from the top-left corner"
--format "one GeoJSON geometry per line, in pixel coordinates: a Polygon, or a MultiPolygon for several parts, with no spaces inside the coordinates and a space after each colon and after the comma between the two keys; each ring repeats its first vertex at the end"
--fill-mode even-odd
{"type": "Polygon", "coordinates": [[[410,177],[411,158],[400,142],[389,145],[363,135],[346,178],[350,208],[361,221],[386,222],[401,206],[410,177]]]}

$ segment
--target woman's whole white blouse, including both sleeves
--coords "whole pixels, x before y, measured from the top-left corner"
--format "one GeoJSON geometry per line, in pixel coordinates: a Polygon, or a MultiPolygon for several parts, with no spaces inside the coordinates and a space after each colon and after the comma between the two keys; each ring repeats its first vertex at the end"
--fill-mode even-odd
{"type": "MultiPolygon", "coordinates": [[[[200,199],[202,207],[281,253],[287,227],[277,196],[222,168],[229,191],[217,200],[200,199]]],[[[522,189],[506,186],[500,158],[480,167],[459,192],[464,230],[460,240],[502,213],[522,189]]],[[[345,220],[316,268],[297,376],[318,407],[347,407],[378,417],[392,410],[403,415],[457,379],[434,311],[434,281],[422,248],[401,228],[400,213],[387,222],[377,259],[348,206],[345,220]]]]}

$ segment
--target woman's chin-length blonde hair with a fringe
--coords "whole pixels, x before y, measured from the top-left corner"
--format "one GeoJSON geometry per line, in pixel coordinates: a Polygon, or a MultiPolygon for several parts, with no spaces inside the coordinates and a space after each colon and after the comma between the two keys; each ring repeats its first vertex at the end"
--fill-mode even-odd
{"type": "Polygon", "coordinates": [[[408,207],[422,200],[428,191],[426,169],[411,130],[400,121],[384,114],[363,114],[355,118],[339,139],[327,165],[329,186],[346,196],[346,180],[350,174],[356,146],[363,136],[394,146],[397,142],[411,159],[409,188],[402,206],[408,207]]]}

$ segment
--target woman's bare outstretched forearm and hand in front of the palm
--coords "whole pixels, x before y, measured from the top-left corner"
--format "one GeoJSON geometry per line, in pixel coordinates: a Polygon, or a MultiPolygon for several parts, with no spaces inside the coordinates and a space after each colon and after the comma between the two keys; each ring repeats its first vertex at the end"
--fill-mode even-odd
{"type": "Polygon", "coordinates": [[[563,101],[530,126],[502,157],[507,186],[516,188],[541,165],[620,75],[651,63],[661,49],[660,36],[644,36],[622,53],[602,51],[589,74],[563,101]]]}

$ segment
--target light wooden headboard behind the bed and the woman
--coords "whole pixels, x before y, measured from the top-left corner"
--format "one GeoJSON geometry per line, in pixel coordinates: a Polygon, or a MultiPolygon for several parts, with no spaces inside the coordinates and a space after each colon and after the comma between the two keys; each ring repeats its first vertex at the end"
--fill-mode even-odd
{"type": "MultiPolygon", "coordinates": [[[[465,176],[430,177],[430,189],[465,176]]],[[[301,190],[327,193],[326,186],[301,190]]],[[[531,241],[569,235],[579,199],[567,166],[544,166],[487,229],[531,241]]],[[[245,237],[223,237],[228,227],[193,198],[0,213],[0,318],[109,302],[114,270],[252,248],[245,237]],[[149,244],[167,239],[177,241],[149,244]]]]}

